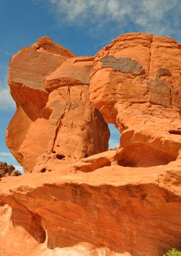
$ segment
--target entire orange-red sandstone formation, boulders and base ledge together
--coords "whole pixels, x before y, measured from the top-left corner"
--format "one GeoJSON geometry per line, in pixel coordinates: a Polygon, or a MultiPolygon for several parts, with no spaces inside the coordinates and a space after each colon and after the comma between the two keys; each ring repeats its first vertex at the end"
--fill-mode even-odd
{"type": "Polygon", "coordinates": [[[171,38],[131,33],[95,57],[49,38],[13,57],[7,145],[33,173],[1,180],[0,255],[181,246],[180,55],[171,38]],[[117,150],[105,122],[121,131],[117,150]]]}

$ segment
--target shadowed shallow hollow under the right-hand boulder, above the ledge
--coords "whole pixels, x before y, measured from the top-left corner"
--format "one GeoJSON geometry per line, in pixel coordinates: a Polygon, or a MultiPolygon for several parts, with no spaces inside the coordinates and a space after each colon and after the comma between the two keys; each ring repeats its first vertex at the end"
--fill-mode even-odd
{"type": "Polygon", "coordinates": [[[166,165],[176,160],[176,155],[169,154],[141,143],[127,146],[117,155],[118,164],[128,167],[150,167],[166,165]]]}

